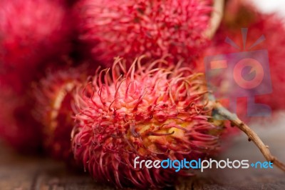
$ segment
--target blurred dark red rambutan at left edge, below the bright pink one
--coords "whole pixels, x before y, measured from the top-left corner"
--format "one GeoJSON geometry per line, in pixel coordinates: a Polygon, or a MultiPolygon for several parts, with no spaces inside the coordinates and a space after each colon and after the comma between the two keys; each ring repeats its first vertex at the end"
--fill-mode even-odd
{"type": "Polygon", "coordinates": [[[41,151],[41,129],[31,114],[31,96],[1,86],[0,104],[0,138],[22,153],[41,151]]]}

